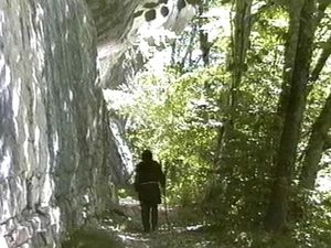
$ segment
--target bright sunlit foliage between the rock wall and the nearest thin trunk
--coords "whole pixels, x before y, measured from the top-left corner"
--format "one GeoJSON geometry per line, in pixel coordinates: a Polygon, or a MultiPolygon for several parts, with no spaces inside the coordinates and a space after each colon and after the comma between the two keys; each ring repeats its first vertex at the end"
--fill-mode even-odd
{"type": "Polygon", "coordinates": [[[124,112],[137,114],[128,136],[137,154],[151,148],[163,162],[169,179],[169,196],[174,202],[192,203],[202,194],[213,163],[224,72],[211,68],[161,82],[142,77],[143,94],[137,105],[124,112]],[[157,89],[157,85],[161,85],[157,89]]]}

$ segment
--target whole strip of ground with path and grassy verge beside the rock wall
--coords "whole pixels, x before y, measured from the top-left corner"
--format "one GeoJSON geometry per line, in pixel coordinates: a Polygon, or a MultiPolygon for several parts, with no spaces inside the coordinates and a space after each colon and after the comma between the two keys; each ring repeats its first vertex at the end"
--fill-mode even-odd
{"type": "Polygon", "coordinates": [[[159,209],[159,229],[145,234],[139,203],[121,200],[120,206],[98,216],[94,225],[74,231],[63,242],[63,248],[228,248],[206,231],[206,226],[191,208],[186,212],[171,209],[171,224],[166,222],[162,206],[159,209]]]}

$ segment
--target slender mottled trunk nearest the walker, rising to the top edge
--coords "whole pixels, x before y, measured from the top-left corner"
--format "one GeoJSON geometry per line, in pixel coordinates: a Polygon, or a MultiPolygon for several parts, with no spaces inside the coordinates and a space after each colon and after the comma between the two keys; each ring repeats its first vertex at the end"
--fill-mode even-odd
{"type": "MultiPolygon", "coordinates": [[[[229,71],[232,74],[229,82],[229,91],[224,99],[222,109],[226,109],[226,119],[224,125],[218,129],[217,147],[215,152],[215,165],[222,174],[222,179],[227,182],[227,190],[223,192],[223,209],[228,211],[235,197],[233,197],[232,184],[235,166],[228,163],[228,158],[233,153],[231,141],[234,138],[234,123],[236,122],[236,114],[238,107],[238,88],[246,72],[246,52],[252,28],[252,2],[253,0],[236,0],[233,19],[234,29],[232,32],[232,53],[229,54],[229,71]]],[[[220,180],[220,179],[218,179],[220,180]]]]}

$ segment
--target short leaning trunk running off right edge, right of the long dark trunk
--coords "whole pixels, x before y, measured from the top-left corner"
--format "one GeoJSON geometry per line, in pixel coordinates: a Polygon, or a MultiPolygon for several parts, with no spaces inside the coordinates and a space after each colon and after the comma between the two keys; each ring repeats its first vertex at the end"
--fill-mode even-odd
{"type": "Polygon", "coordinates": [[[317,173],[319,171],[319,163],[322,158],[324,149],[328,147],[328,132],[331,129],[331,94],[327,103],[314,122],[307,147],[303,168],[301,172],[300,184],[305,188],[313,190],[317,173]]]}

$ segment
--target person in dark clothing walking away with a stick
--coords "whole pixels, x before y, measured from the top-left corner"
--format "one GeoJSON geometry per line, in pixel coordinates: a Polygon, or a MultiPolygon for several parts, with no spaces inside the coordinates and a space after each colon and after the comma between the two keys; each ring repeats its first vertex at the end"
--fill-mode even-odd
{"type": "Polygon", "coordinates": [[[149,233],[150,227],[152,230],[158,227],[158,204],[161,203],[159,185],[164,188],[166,176],[150,150],[142,152],[141,160],[136,166],[135,188],[140,201],[143,231],[149,233]]]}

